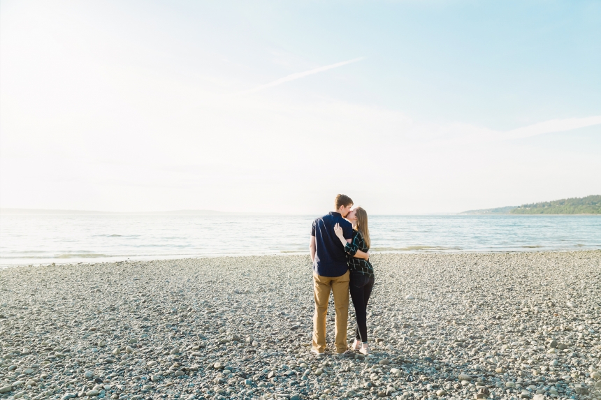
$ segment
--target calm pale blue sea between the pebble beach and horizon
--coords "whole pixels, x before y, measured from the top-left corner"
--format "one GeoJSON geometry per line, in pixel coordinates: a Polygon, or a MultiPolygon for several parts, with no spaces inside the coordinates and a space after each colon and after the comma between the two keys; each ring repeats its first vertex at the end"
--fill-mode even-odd
{"type": "MultiPolygon", "coordinates": [[[[0,214],[0,265],[307,254],[315,216],[0,214]]],[[[372,252],[601,249],[601,216],[370,216],[372,252]]]]}

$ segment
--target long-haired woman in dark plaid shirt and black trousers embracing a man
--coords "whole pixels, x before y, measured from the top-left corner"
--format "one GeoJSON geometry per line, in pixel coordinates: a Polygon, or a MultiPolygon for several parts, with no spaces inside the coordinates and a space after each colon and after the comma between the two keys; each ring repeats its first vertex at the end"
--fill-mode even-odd
{"type": "Polygon", "coordinates": [[[374,286],[374,269],[369,261],[370,231],[368,228],[368,213],[361,207],[349,212],[347,220],[353,224],[353,240],[348,243],[342,234],[342,228],[336,224],[334,232],[345,246],[349,258],[350,279],[349,290],[355,306],[357,327],[355,329],[355,343],[353,350],[362,354],[369,354],[367,308],[368,300],[374,286]],[[359,258],[361,257],[361,258],[359,258]]]}

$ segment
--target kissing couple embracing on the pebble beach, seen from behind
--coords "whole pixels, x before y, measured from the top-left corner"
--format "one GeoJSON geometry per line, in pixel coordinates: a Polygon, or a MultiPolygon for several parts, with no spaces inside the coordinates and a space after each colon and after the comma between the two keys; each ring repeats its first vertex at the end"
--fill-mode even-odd
{"type": "Polygon", "coordinates": [[[335,211],[313,221],[310,253],[313,261],[313,343],[311,351],[326,351],[326,316],[330,291],[335,308],[335,347],[338,355],[352,355],[347,345],[349,291],[357,326],[352,350],[369,354],[367,305],[374,286],[374,272],[368,253],[368,214],[361,207],[351,209],[353,200],[337,195],[335,211]]]}

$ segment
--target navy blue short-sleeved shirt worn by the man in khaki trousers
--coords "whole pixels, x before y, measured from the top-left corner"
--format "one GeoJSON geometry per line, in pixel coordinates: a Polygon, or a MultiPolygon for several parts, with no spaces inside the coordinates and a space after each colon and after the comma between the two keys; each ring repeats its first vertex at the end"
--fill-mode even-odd
{"type": "Polygon", "coordinates": [[[321,276],[340,276],[347,273],[345,246],[334,233],[334,225],[340,223],[345,239],[353,238],[353,225],[339,212],[330,212],[313,221],[311,236],[315,237],[315,262],[313,270],[321,276]]]}

